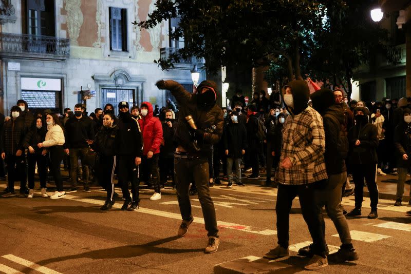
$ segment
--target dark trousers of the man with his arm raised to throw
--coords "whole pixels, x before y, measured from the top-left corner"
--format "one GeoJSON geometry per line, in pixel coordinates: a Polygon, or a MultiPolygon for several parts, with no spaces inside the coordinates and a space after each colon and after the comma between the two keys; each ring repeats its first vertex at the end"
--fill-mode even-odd
{"type": "Polygon", "coordinates": [[[176,176],[177,200],[182,219],[189,221],[193,218],[191,213],[189,186],[191,182],[194,182],[197,187],[198,199],[200,200],[208,236],[218,237],[215,208],[213,200],[211,200],[208,185],[210,180],[208,159],[181,158],[178,154],[175,154],[174,170],[176,176]]]}

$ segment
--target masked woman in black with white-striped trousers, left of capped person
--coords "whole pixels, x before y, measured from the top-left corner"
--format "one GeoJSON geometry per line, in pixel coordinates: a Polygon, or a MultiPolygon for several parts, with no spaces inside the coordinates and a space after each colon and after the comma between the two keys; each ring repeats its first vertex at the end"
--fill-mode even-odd
{"type": "Polygon", "coordinates": [[[114,172],[117,163],[117,136],[118,126],[115,124],[114,113],[103,115],[103,125],[96,134],[95,140],[88,140],[87,144],[97,152],[95,171],[99,185],[107,191],[107,199],[101,210],[113,207],[118,194],[114,191],[114,172]]]}

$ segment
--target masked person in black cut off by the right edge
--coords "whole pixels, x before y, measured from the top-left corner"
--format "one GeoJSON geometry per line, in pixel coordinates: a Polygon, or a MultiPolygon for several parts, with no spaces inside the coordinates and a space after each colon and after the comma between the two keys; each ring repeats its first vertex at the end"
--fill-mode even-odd
{"type": "MultiPolygon", "coordinates": [[[[404,194],[404,183],[407,178],[407,170],[411,167],[411,109],[403,108],[402,111],[403,120],[395,128],[394,135],[398,168],[397,197],[394,204],[395,206],[402,205],[402,195],[404,194]]],[[[411,190],[409,194],[411,197],[411,190]]],[[[411,205],[411,200],[409,200],[408,205],[411,205]]]]}

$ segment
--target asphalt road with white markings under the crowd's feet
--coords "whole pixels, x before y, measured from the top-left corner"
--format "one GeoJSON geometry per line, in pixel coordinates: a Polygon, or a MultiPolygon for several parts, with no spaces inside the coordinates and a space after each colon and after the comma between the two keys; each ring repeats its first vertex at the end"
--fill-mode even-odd
{"type": "MultiPolygon", "coordinates": [[[[0,191],[5,187],[5,182],[0,182],[0,191]]],[[[192,197],[195,221],[188,234],[178,238],[181,217],[175,190],[166,187],[158,201],[148,200],[152,193],[148,189],[140,191],[140,209],[136,211],[121,211],[121,199],[113,209],[101,211],[105,193],[98,187],[90,193],[67,194],[60,200],[41,198],[39,194],[33,199],[0,199],[0,272],[213,273],[217,264],[247,256],[263,257],[276,245],[276,189],[256,185],[211,189],[221,239],[213,254],[203,252],[207,232],[197,197],[192,197]]],[[[353,197],[344,198],[344,204],[351,209],[353,197]]],[[[379,219],[368,220],[366,198],[363,217],[349,220],[360,259],[330,264],[320,271],[409,273],[411,218],[404,212],[411,207],[392,204],[381,200],[379,219]]],[[[336,234],[326,218],[329,246],[340,245],[336,234]]],[[[290,243],[295,249],[306,241],[310,241],[309,232],[295,200],[290,243]]],[[[273,271],[294,273],[305,272],[307,262],[292,251],[290,258],[270,264],[273,271]]]]}

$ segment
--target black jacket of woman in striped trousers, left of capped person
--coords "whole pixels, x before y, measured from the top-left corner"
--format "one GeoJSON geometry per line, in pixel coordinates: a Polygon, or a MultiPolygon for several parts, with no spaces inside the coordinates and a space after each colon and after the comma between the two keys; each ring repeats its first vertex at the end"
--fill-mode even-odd
{"type": "Polygon", "coordinates": [[[117,141],[119,127],[114,125],[112,127],[102,126],[96,134],[96,140],[90,145],[100,155],[114,156],[117,154],[117,141]]]}

